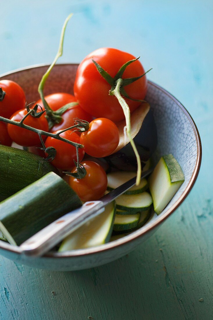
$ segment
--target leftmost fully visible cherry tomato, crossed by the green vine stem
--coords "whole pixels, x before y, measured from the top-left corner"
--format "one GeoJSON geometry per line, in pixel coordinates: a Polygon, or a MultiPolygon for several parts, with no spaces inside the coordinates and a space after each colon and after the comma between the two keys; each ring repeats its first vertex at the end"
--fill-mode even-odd
{"type": "MultiPolygon", "coordinates": [[[[20,121],[21,119],[23,119],[23,117],[27,113],[28,113],[27,109],[16,111],[12,115],[11,120],[20,121]]],[[[29,115],[24,120],[24,124],[39,130],[43,130],[43,131],[49,130],[48,122],[44,115],[42,115],[40,118],[35,118],[29,115]]],[[[8,124],[7,130],[11,139],[17,144],[19,144],[20,146],[31,147],[31,146],[39,145],[41,142],[36,132],[29,131],[28,129],[20,128],[14,124],[8,124]]],[[[45,140],[46,136],[42,136],[42,138],[43,140],[45,140]]]]}

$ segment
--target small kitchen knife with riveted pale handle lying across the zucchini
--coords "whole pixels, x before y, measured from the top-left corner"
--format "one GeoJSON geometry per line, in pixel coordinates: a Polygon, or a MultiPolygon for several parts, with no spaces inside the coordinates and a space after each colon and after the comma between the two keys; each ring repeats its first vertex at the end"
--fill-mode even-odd
{"type": "MultiPolygon", "coordinates": [[[[142,172],[141,179],[153,169],[142,172]]],[[[20,245],[21,251],[28,256],[42,256],[63,238],[104,211],[104,207],[135,185],[136,177],[110,191],[97,201],[87,201],[80,208],[66,213],[20,245]]]]}

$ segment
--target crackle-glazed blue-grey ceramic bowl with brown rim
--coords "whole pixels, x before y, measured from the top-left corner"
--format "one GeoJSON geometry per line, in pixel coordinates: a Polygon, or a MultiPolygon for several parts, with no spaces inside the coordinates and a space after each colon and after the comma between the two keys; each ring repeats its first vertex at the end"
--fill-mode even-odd
{"type": "MultiPolygon", "coordinates": [[[[45,86],[45,94],[71,92],[77,64],[56,65],[45,86]]],[[[0,76],[16,81],[24,89],[27,102],[39,98],[37,88],[48,66],[33,66],[0,76]]],[[[18,246],[0,241],[0,254],[17,263],[49,270],[80,270],[103,265],[134,250],[151,236],[183,202],[193,187],[201,165],[201,140],[197,127],[183,105],[160,86],[148,82],[146,100],[150,103],[158,134],[158,156],[172,153],[185,175],[185,182],[163,212],[154,214],[146,225],[116,241],[69,252],[49,252],[43,257],[25,256],[18,246]]]]}

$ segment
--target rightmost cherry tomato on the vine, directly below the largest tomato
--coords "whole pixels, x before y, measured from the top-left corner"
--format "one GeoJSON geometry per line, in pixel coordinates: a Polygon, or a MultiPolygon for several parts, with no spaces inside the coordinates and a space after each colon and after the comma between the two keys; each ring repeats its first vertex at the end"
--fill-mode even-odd
{"type": "Polygon", "coordinates": [[[111,120],[97,118],[91,121],[89,129],[81,134],[80,142],[88,155],[103,158],[117,148],[119,131],[111,120]]]}

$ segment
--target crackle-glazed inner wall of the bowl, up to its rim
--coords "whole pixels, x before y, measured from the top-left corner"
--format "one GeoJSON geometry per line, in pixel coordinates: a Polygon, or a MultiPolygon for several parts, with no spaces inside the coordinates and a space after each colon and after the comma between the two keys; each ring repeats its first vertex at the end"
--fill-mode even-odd
{"type": "MultiPolygon", "coordinates": [[[[46,82],[44,93],[73,93],[77,66],[77,64],[56,65],[46,82]]],[[[47,68],[47,66],[26,68],[14,73],[5,74],[0,77],[0,80],[3,78],[11,79],[19,83],[26,93],[27,102],[30,103],[39,99],[37,92],[38,84],[47,68]]],[[[162,155],[172,153],[184,172],[185,182],[164,211],[159,216],[154,213],[144,227],[114,243],[104,244],[96,247],[96,249],[83,249],[83,254],[102,251],[105,250],[105,248],[108,250],[148,233],[178,207],[196,180],[201,162],[201,143],[199,133],[192,118],[180,102],[170,95],[170,93],[152,82],[148,83],[146,100],[151,105],[157,126],[158,147],[154,155],[155,161],[162,155]]],[[[0,241],[0,247],[2,245],[4,249],[11,250],[11,245],[2,244],[2,241],[0,241]]],[[[20,253],[17,248],[13,248],[13,252],[20,253]]],[[[79,250],[75,252],[75,256],[78,252],[79,250]]],[[[72,256],[72,254],[73,252],[67,253],[68,256],[72,256]]],[[[51,253],[51,256],[62,257],[63,254],[51,253]]]]}

